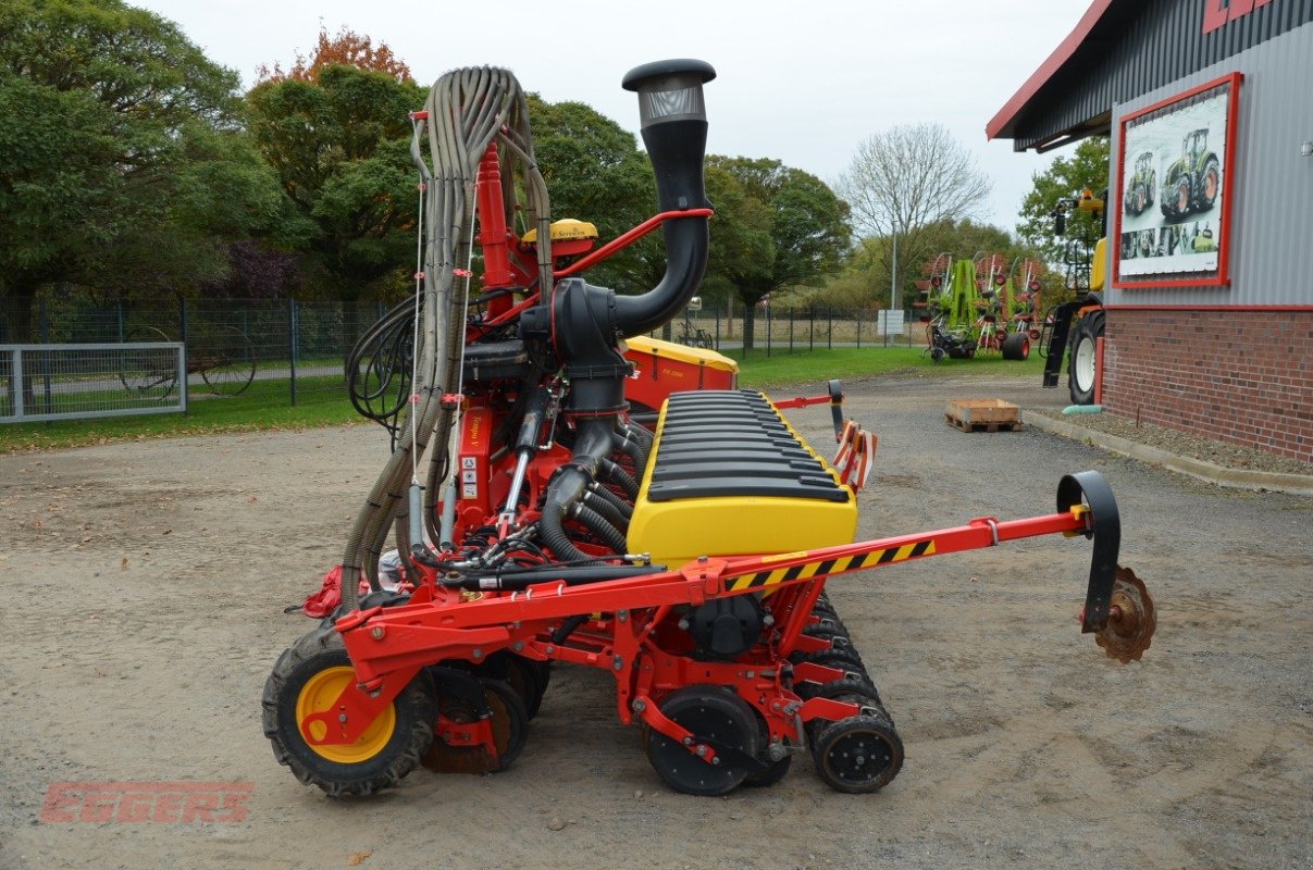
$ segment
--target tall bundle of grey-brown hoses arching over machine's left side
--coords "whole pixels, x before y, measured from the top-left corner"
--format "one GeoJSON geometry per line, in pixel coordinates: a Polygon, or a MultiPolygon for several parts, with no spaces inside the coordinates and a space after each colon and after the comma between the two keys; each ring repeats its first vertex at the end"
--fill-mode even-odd
{"type": "Polygon", "coordinates": [[[508,70],[471,67],[448,72],[429,89],[427,117],[418,121],[411,154],[427,186],[423,215],[423,287],[415,336],[412,399],[400,421],[397,445],[365,504],[356,514],[341,562],[341,598],[358,604],[361,572],[378,588],[378,555],[395,526],[398,550],[410,552],[407,489],[425,447],[435,444],[425,479],[424,528],[433,528],[437,488],[448,465],[449,440],[458,411],[444,395],[460,388],[465,352],[465,294],[457,270],[465,270],[474,236],[474,180],[479,161],[495,140],[502,164],[502,190],[511,224],[516,189],[524,190],[525,213],[538,231],[538,286],[551,286],[550,201],[538,172],[529,134],[529,113],[520,83],[508,70]],[[424,157],[423,144],[428,146],[424,157]],[[519,180],[519,185],[516,181],[519,180]]]}

